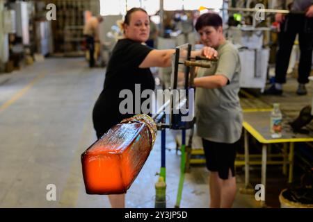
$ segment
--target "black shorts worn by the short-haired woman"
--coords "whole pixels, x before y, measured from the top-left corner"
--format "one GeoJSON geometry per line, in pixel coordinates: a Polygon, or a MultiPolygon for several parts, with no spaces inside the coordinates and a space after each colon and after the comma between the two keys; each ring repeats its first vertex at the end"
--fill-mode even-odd
{"type": "Polygon", "coordinates": [[[207,169],[218,172],[218,176],[223,180],[228,179],[229,169],[232,171],[232,176],[235,176],[234,161],[239,142],[225,144],[202,139],[202,143],[207,169]]]}

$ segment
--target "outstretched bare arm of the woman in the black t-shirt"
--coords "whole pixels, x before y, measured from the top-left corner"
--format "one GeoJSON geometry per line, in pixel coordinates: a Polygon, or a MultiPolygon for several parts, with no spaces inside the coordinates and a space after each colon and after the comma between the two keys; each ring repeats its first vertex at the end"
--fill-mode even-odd
{"type": "Polygon", "coordinates": [[[147,54],[139,68],[170,67],[172,65],[173,53],[175,53],[175,49],[154,49],[147,54]]]}

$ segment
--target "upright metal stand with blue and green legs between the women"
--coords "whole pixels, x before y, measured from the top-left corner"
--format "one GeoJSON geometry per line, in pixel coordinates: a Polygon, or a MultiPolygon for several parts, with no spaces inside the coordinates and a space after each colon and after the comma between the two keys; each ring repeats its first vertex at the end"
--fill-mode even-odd
{"type": "MultiPolygon", "coordinates": [[[[161,130],[161,169],[160,180],[156,184],[156,207],[166,207],[166,191],[161,192],[157,189],[160,181],[166,182],[166,128],[173,130],[182,130],[181,144],[181,164],[179,187],[177,189],[177,200],[175,207],[179,207],[182,199],[182,189],[184,185],[184,171],[186,161],[186,130],[193,128],[194,117],[194,87],[193,78],[195,78],[195,67],[211,67],[211,62],[216,59],[207,59],[205,57],[191,58],[191,44],[183,44],[176,47],[172,59],[172,74],[170,81],[170,99],[164,103],[161,108],[152,117],[157,123],[158,130],[161,130]],[[168,111],[169,108],[169,112],[168,111]],[[160,202],[163,200],[163,203],[160,202]]],[[[189,139],[191,142],[191,139],[189,139]]],[[[166,189],[166,185],[163,186],[166,189]]]]}

